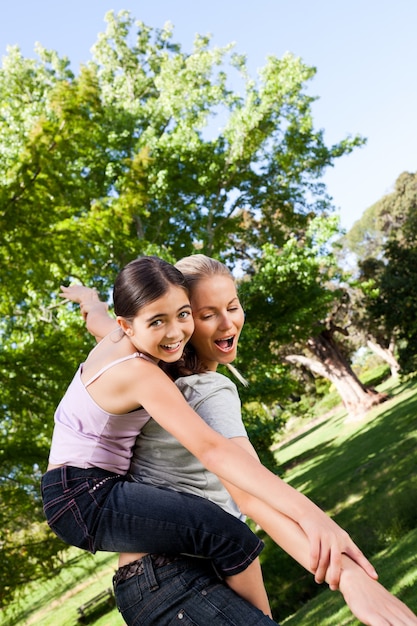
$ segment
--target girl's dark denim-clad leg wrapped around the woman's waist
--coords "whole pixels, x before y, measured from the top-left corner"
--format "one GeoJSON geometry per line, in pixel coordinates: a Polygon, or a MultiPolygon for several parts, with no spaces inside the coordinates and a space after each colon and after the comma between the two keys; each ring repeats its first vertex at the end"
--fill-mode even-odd
{"type": "Polygon", "coordinates": [[[100,503],[96,550],[204,556],[222,576],[235,576],[262,547],[246,524],[191,494],[121,481],[100,503]]]}

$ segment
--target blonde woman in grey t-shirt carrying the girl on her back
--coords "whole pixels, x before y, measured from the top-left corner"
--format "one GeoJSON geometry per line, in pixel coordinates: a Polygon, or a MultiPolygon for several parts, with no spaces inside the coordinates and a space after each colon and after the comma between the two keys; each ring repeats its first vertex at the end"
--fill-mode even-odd
{"type": "MultiPolygon", "coordinates": [[[[185,274],[191,288],[195,321],[191,341],[191,369],[195,371],[199,368],[206,373],[187,376],[176,382],[200,415],[214,428],[220,432],[226,431],[224,434],[227,434],[227,429],[229,433],[233,432],[230,426],[233,420],[235,424],[241,421],[236,388],[229,379],[216,373],[219,363],[230,364],[234,360],[243,325],[243,313],[233,278],[225,266],[203,255],[183,259],[177,266],[185,274]],[[224,425],[225,420],[228,421],[227,428],[224,425]]],[[[98,302],[94,292],[83,287],[71,287],[63,291],[65,292],[63,295],[81,302],[84,316],[90,311],[87,318],[90,332],[100,335],[112,327],[114,322],[106,315],[106,308],[98,302]]],[[[190,364],[190,355],[188,363],[190,364]]],[[[239,429],[236,428],[235,432],[239,432],[239,429]]],[[[235,441],[254,453],[245,436],[238,436],[235,441]]],[[[198,467],[194,457],[181,448],[178,442],[153,420],[148,422],[138,438],[131,471],[137,473],[140,480],[149,484],[168,484],[172,488],[193,493],[202,493],[204,485],[206,497],[219,501],[220,487],[210,487],[213,485],[214,477],[210,479],[209,473],[202,466],[198,467]]],[[[230,485],[229,488],[233,490],[230,485]]],[[[298,562],[311,571],[311,564],[307,558],[308,541],[301,528],[288,517],[265,506],[258,498],[252,498],[251,501],[247,494],[236,490],[234,494],[237,500],[243,502],[250,516],[298,562]]],[[[227,502],[227,498],[223,497],[223,502],[227,502]]],[[[141,556],[122,555],[121,562],[129,563],[135,557],[141,556]]],[[[357,563],[345,555],[342,559],[340,589],[359,619],[365,624],[375,626],[417,624],[417,619],[411,611],[370,578],[357,563]]],[[[140,563],[145,570],[148,568],[153,572],[152,563],[146,557],[140,563]]],[[[243,601],[233,598],[227,588],[219,584],[201,562],[190,562],[183,558],[175,564],[162,567],[157,571],[158,592],[153,589],[149,593],[146,577],[135,575],[134,562],[122,567],[118,574],[120,575],[116,575],[119,581],[116,585],[116,597],[119,606],[124,609],[123,616],[128,624],[133,624],[139,613],[142,624],[163,624],[171,623],[170,620],[175,616],[181,619],[184,612],[194,620],[193,623],[201,625],[212,620],[219,624],[263,623],[260,618],[258,621],[252,621],[254,617],[250,607],[243,601]],[[126,574],[125,579],[123,574],[126,574]],[[123,580],[125,582],[122,582],[123,580]],[[205,602],[202,595],[197,593],[198,588],[203,585],[203,580],[207,597],[205,602]],[[188,584],[185,585],[184,581],[188,584]],[[165,596],[168,588],[169,600],[165,596]],[[150,613],[146,617],[148,608],[150,613]]],[[[316,579],[320,577],[321,574],[316,573],[316,579]]],[[[328,572],[326,579],[329,582],[328,572]]]]}

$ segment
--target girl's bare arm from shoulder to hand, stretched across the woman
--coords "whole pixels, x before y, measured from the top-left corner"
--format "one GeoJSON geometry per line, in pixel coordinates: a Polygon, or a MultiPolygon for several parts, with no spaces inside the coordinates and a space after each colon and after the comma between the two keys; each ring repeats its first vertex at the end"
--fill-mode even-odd
{"type": "MultiPolygon", "coordinates": [[[[176,386],[151,364],[146,382],[140,385],[140,402],[163,428],[170,432],[211,472],[249,493],[299,524],[310,541],[310,571],[329,570],[332,586],[339,583],[341,555],[349,554],[373,577],[372,565],[349,535],[306,496],[270,472],[235,442],[211,429],[187,405],[176,386]],[[163,393],[161,390],[163,389],[163,393]]],[[[139,377],[136,376],[138,381],[139,377]]],[[[139,383],[137,383],[139,384],[139,383]]],[[[243,498],[238,504],[244,503],[243,498]]],[[[245,507],[243,507],[245,509],[245,507]]],[[[248,510],[243,510],[249,514],[248,510]]],[[[250,513],[252,517],[252,513],[250,513]]],[[[269,530],[265,529],[269,533],[269,530]]]]}

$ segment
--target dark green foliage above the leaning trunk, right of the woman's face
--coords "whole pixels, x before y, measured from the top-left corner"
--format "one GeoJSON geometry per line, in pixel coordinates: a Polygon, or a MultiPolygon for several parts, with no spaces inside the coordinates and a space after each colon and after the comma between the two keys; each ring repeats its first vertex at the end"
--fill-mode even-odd
{"type": "MultiPolygon", "coordinates": [[[[332,284],[334,257],[324,246],[334,228],[331,219],[316,218],[282,247],[265,244],[256,272],[240,284],[246,311],[240,357],[251,364],[251,384],[274,381],[275,398],[283,397],[284,386],[287,398],[298,393],[300,382],[282,365],[285,351],[319,332],[339,295],[332,284]]],[[[273,395],[274,388],[270,391],[273,395]]],[[[269,394],[263,399],[272,400],[269,394]]]]}

